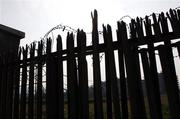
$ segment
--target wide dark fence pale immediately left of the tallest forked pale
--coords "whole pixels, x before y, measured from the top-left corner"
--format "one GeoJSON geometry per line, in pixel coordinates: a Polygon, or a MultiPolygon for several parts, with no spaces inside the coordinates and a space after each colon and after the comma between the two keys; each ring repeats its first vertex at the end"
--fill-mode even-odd
{"type": "Polygon", "coordinates": [[[79,76],[79,119],[89,118],[88,98],[88,69],[86,61],[86,34],[84,31],[77,33],[78,47],[78,76],[79,76]]]}

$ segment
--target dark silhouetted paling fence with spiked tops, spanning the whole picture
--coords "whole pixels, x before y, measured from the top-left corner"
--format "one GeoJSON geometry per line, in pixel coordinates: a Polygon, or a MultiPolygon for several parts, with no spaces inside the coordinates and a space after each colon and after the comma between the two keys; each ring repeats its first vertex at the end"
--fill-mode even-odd
{"type": "Polygon", "coordinates": [[[113,41],[111,26],[103,26],[104,43],[99,44],[98,16],[97,11],[94,11],[91,46],[86,46],[85,32],[78,30],[77,47],[74,46],[73,33],[68,33],[67,49],[62,49],[59,35],[56,52],[51,51],[52,41],[49,38],[46,44],[40,41],[38,45],[34,43],[20,48],[18,56],[1,54],[0,117],[88,119],[92,118],[89,112],[93,111],[95,119],[147,118],[141,85],[143,72],[150,117],[161,119],[163,114],[156,51],[164,74],[170,117],[180,118],[179,88],[172,52],[172,47],[177,48],[180,55],[180,42],[171,42],[180,38],[180,10],[170,10],[167,17],[161,13],[158,18],[152,14],[152,19],[132,19],[129,31],[123,21],[118,22],[117,41],[113,41]],[[163,42],[163,45],[155,47],[158,42],[163,42]],[[142,45],[146,45],[146,48],[139,47],[142,45]],[[115,50],[118,51],[119,66],[116,66],[115,50]],[[105,54],[105,101],[102,97],[100,53],[105,54]],[[92,77],[88,76],[87,55],[92,55],[92,77]],[[63,66],[64,61],[66,66],[63,66]],[[67,99],[64,95],[65,69],[67,99]],[[93,78],[93,110],[89,104],[88,78],[93,78]]]}

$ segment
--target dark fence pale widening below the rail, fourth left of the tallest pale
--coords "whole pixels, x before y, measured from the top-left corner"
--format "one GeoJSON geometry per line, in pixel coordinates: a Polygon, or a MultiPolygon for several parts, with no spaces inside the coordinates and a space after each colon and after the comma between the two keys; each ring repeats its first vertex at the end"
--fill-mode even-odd
{"type": "MultiPolygon", "coordinates": [[[[58,72],[58,57],[51,55],[51,39],[49,38],[47,40],[47,59],[46,59],[46,103],[47,103],[47,118],[48,119],[58,119],[59,116],[62,116],[62,112],[59,112],[59,102],[60,98],[60,87],[58,87],[60,84],[59,79],[59,72],[58,72]]],[[[59,54],[58,54],[59,55],[59,54]]],[[[62,84],[61,84],[62,85],[62,84]]],[[[62,92],[61,92],[62,93],[62,92]]],[[[62,103],[62,101],[61,101],[62,103]]],[[[62,106],[62,105],[61,105],[62,106]]],[[[63,107],[61,107],[63,108],[63,107]]],[[[62,110],[61,110],[62,111],[62,110]]]]}

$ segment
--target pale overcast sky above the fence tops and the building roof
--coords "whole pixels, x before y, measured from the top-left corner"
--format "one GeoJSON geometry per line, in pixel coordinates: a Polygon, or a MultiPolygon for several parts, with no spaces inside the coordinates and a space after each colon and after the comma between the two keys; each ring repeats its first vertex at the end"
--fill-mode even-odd
{"type": "Polygon", "coordinates": [[[0,0],[0,23],[24,31],[22,44],[40,40],[58,24],[91,31],[91,11],[99,12],[99,25],[176,8],[180,0],[0,0]]]}

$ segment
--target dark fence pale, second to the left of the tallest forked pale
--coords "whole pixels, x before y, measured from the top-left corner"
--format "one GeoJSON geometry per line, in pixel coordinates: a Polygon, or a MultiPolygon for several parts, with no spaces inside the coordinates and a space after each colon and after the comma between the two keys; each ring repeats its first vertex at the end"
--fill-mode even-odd
{"type": "Polygon", "coordinates": [[[68,87],[68,119],[78,118],[78,84],[77,67],[74,55],[74,36],[67,35],[67,87],[68,87]]]}

